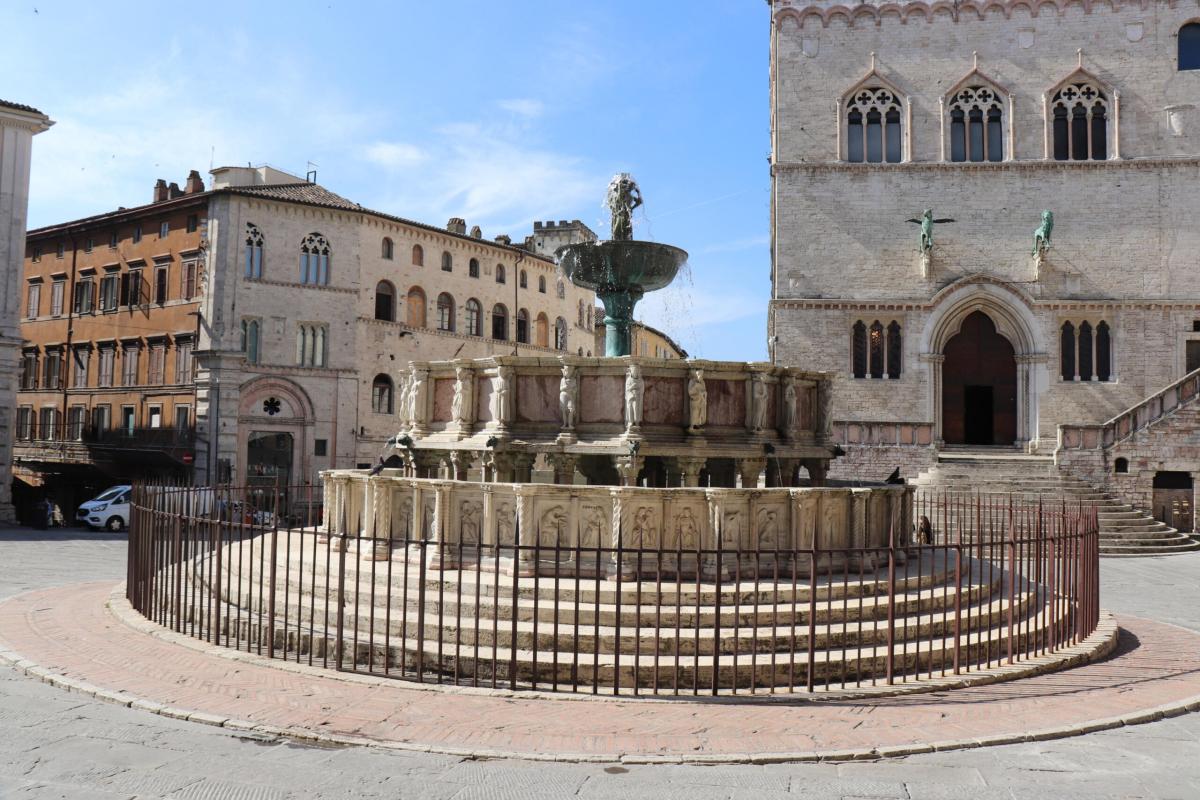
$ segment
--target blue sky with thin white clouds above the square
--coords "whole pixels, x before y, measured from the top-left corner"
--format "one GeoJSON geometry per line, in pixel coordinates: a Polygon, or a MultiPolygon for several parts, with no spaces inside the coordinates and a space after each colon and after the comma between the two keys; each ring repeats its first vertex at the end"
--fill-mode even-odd
{"type": "Polygon", "coordinates": [[[604,236],[628,172],[635,236],[691,254],[638,318],[697,357],[767,355],[762,0],[0,0],[0,97],[56,122],[35,139],[30,228],[266,163],[488,239],[576,218],[604,236]]]}

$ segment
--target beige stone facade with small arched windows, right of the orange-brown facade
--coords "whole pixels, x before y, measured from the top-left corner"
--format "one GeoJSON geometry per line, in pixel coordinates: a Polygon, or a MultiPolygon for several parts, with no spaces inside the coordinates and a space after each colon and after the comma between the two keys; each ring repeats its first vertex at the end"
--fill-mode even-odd
{"type": "Polygon", "coordinates": [[[590,355],[594,295],[535,248],[458,218],[372,211],[268,167],[212,178],[198,481],[314,483],[376,463],[412,360],[590,355]]]}

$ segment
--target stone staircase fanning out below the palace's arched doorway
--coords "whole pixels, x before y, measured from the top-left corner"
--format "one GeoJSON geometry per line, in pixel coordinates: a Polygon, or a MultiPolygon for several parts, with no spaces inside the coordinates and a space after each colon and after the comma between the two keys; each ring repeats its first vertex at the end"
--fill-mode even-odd
{"type": "Polygon", "coordinates": [[[1055,465],[1052,456],[1030,456],[1000,447],[947,449],[938,455],[935,467],[917,477],[916,485],[918,498],[936,489],[1094,505],[1100,522],[1100,555],[1168,555],[1200,549],[1200,541],[1188,534],[1067,475],[1055,465]]]}

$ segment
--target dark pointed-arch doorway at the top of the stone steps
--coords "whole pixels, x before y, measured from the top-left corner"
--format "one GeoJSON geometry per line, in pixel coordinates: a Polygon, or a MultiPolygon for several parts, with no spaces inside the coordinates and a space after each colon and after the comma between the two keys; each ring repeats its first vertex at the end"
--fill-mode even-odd
{"type": "Polygon", "coordinates": [[[947,444],[1016,441],[1016,353],[982,311],[947,343],[942,365],[942,439],[947,444]]]}

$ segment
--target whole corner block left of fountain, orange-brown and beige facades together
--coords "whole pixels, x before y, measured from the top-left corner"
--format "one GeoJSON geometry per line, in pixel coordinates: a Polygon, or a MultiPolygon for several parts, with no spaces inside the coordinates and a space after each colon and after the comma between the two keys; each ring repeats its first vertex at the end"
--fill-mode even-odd
{"type": "Polygon", "coordinates": [[[374,463],[412,360],[592,355],[595,297],[534,239],[372,211],[270,167],[31,231],[5,294],[25,385],[0,407],[23,476],[274,487],[374,463]]]}

